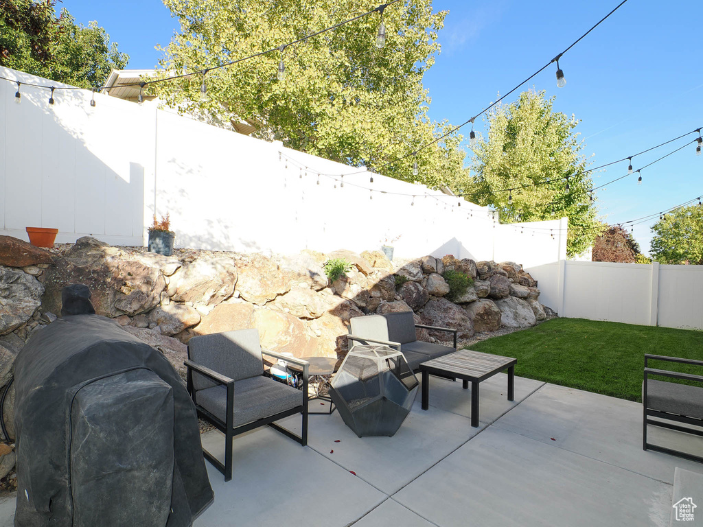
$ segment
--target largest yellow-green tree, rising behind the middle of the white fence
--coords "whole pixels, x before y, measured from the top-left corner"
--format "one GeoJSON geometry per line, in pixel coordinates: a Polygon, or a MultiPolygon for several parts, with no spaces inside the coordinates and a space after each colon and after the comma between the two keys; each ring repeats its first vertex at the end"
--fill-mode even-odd
{"type": "MultiPolygon", "coordinates": [[[[217,67],[276,48],[378,6],[375,0],[165,0],[181,22],[164,49],[168,74],[217,67]]],[[[380,169],[405,181],[458,188],[465,154],[461,136],[444,138],[413,156],[447,129],[427,117],[423,75],[439,53],[437,32],[446,12],[432,0],[388,6],[385,47],[377,48],[378,13],[336,30],[207,73],[209,100],[199,100],[202,76],[154,86],[169,105],[204,112],[210,122],[245,119],[259,138],[354,167],[380,169]],[[278,63],[285,79],[277,79],[278,63]],[[222,117],[225,117],[222,119],[222,117]],[[386,166],[387,165],[387,166],[386,166]],[[382,169],[381,169],[382,167],[382,169]]]]}

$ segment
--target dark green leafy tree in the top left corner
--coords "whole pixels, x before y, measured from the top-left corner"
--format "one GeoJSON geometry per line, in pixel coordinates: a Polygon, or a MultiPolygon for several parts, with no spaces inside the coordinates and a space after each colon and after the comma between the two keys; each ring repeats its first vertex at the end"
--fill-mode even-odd
{"type": "Polygon", "coordinates": [[[103,85],[129,56],[97,22],[76,25],[55,0],[0,0],[0,65],[86,89],[103,85]]]}

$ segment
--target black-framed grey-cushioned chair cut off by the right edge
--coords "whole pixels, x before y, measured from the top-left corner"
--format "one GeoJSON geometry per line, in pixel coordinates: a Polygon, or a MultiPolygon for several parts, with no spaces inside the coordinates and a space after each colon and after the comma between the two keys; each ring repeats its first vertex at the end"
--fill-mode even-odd
{"type": "Polygon", "coordinates": [[[678,384],[676,382],[658,381],[650,376],[667,377],[669,379],[684,379],[703,384],[703,376],[689,373],[656,370],[647,367],[648,360],[667,360],[673,363],[693,364],[703,366],[703,360],[688,358],[666,357],[662,355],[645,354],[645,379],[642,384],[643,407],[643,450],[654,450],[665,454],[683,457],[684,459],[703,463],[703,457],[690,453],[665,448],[661,445],[647,443],[647,425],[668,428],[687,434],[703,436],[703,387],[678,384]],[[650,419],[654,417],[655,419],[650,419]],[[679,423],[679,424],[675,424],[679,423]],[[689,426],[681,426],[687,424],[689,426]]]}

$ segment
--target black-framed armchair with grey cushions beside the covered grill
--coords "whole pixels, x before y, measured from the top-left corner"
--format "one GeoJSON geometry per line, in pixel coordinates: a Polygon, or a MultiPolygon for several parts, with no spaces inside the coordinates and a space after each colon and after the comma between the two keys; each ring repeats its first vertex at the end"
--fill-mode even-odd
{"type": "Polygon", "coordinates": [[[232,438],[268,424],[301,445],[307,445],[308,363],[273,351],[262,350],[259,331],[238,330],[193,337],[188,342],[188,393],[198,416],[225,435],[225,462],[202,449],[205,459],[232,479],[232,438]],[[264,376],[262,355],[302,367],[302,391],[264,376]],[[302,415],[297,436],[275,421],[302,415]]]}

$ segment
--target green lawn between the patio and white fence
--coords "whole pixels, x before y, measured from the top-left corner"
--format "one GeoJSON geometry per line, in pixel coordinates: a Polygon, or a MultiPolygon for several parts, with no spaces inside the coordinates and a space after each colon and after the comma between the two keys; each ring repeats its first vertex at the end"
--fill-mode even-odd
{"type": "MultiPolygon", "coordinates": [[[[644,354],[703,360],[703,332],[555,318],[469,347],[517,358],[520,377],[641,401],[644,354]]],[[[703,375],[703,366],[650,361],[650,367],[703,375]]]]}

